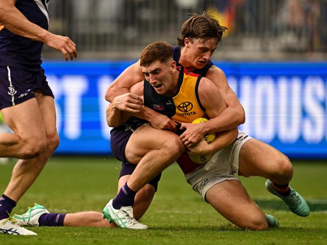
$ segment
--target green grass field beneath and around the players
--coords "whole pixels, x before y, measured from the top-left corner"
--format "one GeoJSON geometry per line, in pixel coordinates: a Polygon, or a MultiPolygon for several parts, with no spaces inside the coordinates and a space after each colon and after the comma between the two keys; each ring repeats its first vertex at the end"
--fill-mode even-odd
{"type": "MultiPolygon", "coordinates": [[[[31,227],[38,236],[0,234],[0,244],[327,244],[327,162],[293,161],[291,185],[308,201],[303,218],[288,211],[265,189],[262,178],[242,178],[249,195],[274,214],[280,227],[247,231],[235,227],[191,190],[176,164],[161,178],[158,192],[135,231],[110,228],[31,227]]],[[[0,165],[0,191],[14,163],[0,165]]],[[[13,213],[38,202],[51,212],[102,211],[115,196],[120,163],[111,157],[52,157],[13,213]]]]}

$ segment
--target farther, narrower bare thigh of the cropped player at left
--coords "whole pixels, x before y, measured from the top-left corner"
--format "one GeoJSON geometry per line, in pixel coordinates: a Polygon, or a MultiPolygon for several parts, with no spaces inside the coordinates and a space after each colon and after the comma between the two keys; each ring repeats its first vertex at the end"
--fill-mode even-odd
{"type": "Polygon", "coordinates": [[[35,93],[35,97],[40,108],[46,137],[47,139],[57,141],[58,136],[54,99],[51,96],[43,95],[38,91],[35,93]]]}

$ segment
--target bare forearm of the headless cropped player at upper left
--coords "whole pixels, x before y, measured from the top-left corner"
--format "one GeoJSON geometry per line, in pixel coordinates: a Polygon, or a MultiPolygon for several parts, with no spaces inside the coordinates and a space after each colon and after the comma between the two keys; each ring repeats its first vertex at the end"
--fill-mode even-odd
{"type": "Polygon", "coordinates": [[[15,6],[0,6],[0,23],[9,31],[20,36],[46,42],[51,35],[45,29],[33,24],[15,6]]]}

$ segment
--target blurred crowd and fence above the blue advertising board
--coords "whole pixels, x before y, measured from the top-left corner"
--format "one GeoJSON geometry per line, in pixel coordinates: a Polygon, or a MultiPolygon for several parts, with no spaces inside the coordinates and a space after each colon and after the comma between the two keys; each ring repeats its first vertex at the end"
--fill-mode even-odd
{"type": "Polygon", "coordinates": [[[214,59],[327,57],[327,0],[51,0],[50,30],[81,58],[137,59],[153,41],[176,44],[188,13],[205,10],[228,27],[214,59]]]}

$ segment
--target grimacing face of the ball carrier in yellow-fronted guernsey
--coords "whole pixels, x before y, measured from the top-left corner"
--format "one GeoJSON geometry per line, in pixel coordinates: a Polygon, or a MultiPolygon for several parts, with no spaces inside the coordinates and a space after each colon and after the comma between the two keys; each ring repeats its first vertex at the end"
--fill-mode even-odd
{"type": "Polygon", "coordinates": [[[151,84],[159,95],[171,96],[177,91],[173,83],[172,72],[175,69],[175,61],[152,62],[149,66],[142,66],[142,72],[146,80],[151,84]]]}

